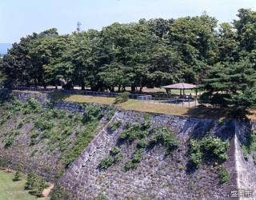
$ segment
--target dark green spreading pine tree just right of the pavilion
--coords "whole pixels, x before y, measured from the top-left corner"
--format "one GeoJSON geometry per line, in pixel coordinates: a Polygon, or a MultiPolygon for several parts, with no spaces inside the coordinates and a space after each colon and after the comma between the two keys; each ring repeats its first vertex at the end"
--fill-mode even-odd
{"type": "MultiPolygon", "coordinates": [[[[242,110],[246,110],[248,106],[253,106],[255,100],[252,90],[255,78],[256,71],[248,60],[218,63],[204,79],[203,87],[207,90],[206,94],[212,104],[241,107],[242,110]]],[[[202,97],[206,98],[206,94],[202,97]]]]}

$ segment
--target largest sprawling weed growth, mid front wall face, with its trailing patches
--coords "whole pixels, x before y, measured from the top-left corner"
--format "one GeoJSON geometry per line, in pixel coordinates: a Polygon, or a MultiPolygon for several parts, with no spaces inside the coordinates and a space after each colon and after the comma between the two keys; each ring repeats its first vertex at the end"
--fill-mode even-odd
{"type": "MultiPolygon", "coordinates": [[[[119,126],[121,126],[121,123],[115,121],[110,123],[108,128],[110,130],[116,130],[119,126]]],[[[166,147],[166,155],[168,155],[178,148],[178,138],[168,128],[150,126],[150,114],[145,114],[144,122],[141,124],[126,123],[118,138],[118,142],[120,142],[119,145],[137,142],[134,153],[124,165],[123,170],[125,171],[134,170],[139,165],[146,149],[153,148],[156,145],[162,145],[166,147]]],[[[115,148],[118,147],[116,146],[115,148]]],[[[116,160],[110,154],[102,159],[99,166],[101,169],[107,169],[119,161],[121,161],[121,157],[116,160]]]]}

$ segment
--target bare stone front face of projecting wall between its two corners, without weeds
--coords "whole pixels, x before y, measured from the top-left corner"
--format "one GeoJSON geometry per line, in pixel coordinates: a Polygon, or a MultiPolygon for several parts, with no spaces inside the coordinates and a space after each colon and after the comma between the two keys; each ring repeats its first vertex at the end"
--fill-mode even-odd
{"type": "MultiPolygon", "coordinates": [[[[219,183],[218,172],[213,166],[202,165],[193,173],[187,166],[187,142],[190,136],[210,134],[234,137],[233,122],[219,125],[217,120],[202,118],[182,118],[163,114],[153,114],[153,125],[167,126],[178,136],[180,145],[172,156],[165,156],[162,146],[155,146],[144,154],[142,162],[135,170],[125,172],[123,166],[131,157],[134,145],[121,146],[122,162],[107,170],[99,170],[98,164],[117,144],[118,137],[126,122],[142,122],[143,114],[130,111],[118,111],[112,121],[119,120],[122,126],[112,132],[107,128],[94,138],[82,155],[66,171],[60,184],[70,190],[78,199],[95,199],[100,195],[109,199],[224,199],[233,190],[236,176],[232,167],[232,157],[225,163],[231,172],[229,184],[219,183]]],[[[229,154],[234,154],[230,150],[229,154]]],[[[233,165],[232,165],[233,164],[233,165]]]]}

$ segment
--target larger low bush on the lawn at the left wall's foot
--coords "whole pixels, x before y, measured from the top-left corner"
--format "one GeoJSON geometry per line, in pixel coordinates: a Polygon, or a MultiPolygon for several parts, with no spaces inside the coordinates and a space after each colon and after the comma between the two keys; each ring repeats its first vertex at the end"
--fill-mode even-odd
{"type": "Polygon", "coordinates": [[[47,186],[46,181],[34,172],[27,174],[25,190],[30,190],[30,194],[37,197],[42,197],[42,191],[47,186]]]}

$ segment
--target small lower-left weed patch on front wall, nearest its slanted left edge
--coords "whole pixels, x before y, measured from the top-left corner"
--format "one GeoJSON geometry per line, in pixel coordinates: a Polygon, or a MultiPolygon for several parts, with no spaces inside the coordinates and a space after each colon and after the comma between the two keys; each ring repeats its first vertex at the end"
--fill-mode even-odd
{"type": "Polygon", "coordinates": [[[110,150],[110,154],[103,158],[99,163],[99,168],[102,170],[106,170],[110,166],[113,166],[115,163],[120,162],[122,160],[121,150],[118,146],[114,146],[112,150],[110,150]]]}

